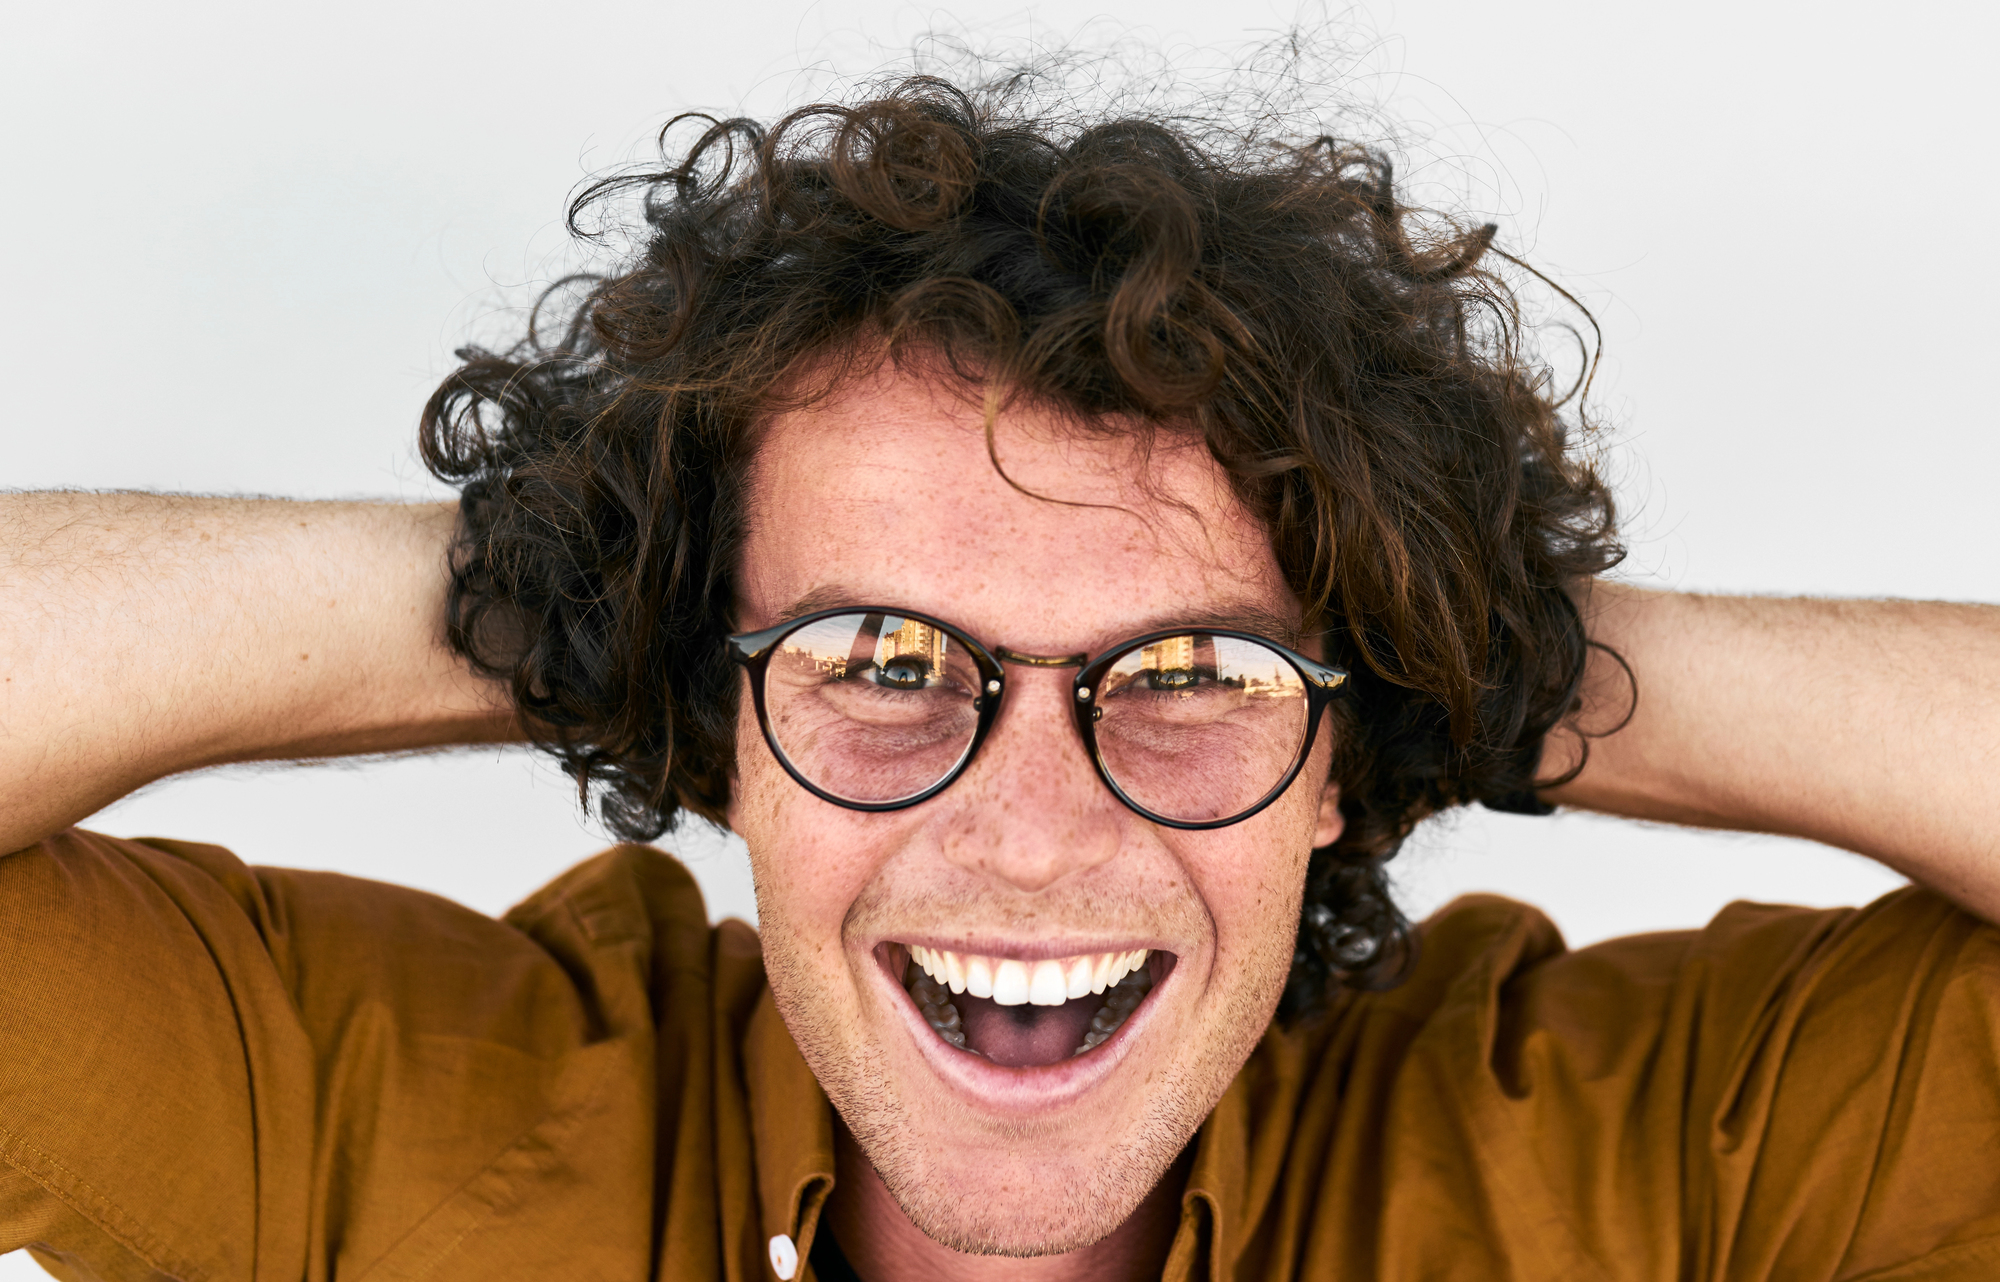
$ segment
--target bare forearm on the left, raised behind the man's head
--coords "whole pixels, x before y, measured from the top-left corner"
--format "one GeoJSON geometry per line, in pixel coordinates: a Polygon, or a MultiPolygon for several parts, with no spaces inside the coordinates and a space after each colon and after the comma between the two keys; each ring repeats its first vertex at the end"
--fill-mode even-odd
{"type": "Polygon", "coordinates": [[[0,852],[222,762],[514,738],[442,638],[450,504],[0,496],[0,852]]]}

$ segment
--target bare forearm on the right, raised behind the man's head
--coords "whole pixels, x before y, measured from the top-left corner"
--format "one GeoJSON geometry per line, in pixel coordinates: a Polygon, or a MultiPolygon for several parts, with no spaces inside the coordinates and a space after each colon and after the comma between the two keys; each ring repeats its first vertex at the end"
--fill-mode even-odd
{"type": "MultiPolygon", "coordinates": [[[[1596,584],[1584,618],[1638,706],[1548,800],[1844,846],[2000,922],[2000,608],[1596,584]]],[[[1580,722],[1628,690],[1592,654],[1580,722]]],[[[1574,760],[1554,736],[1544,778],[1574,760]]]]}

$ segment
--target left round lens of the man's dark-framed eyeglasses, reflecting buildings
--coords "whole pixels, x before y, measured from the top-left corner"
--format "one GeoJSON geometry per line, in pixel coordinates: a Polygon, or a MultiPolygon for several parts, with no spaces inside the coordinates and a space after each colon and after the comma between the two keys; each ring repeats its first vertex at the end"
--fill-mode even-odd
{"type": "Polygon", "coordinates": [[[950,774],[978,728],[980,670],[948,632],[882,612],[788,634],[764,670],[778,750],[850,802],[900,802],[950,774]]]}

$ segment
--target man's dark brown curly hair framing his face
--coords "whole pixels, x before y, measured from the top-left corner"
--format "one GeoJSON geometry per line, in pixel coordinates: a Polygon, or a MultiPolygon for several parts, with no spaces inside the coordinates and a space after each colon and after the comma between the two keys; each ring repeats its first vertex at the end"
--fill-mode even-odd
{"type": "Polygon", "coordinates": [[[450,638],[612,830],[720,822],[760,422],[886,348],[1084,430],[1196,432],[1354,674],[1298,1018],[1408,960],[1386,864],[1420,818],[1534,806],[1584,672],[1570,590],[1622,554],[1612,498],[1482,266],[1492,226],[1424,234],[1390,162],[1334,138],[1032,106],[916,76],[770,126],[696,116],[672,156],[680,118],[662,168],[586,188],[572,232],[638,196],[642,252],[544,296],[570,298],[560,338],[460,350],[424,408],[462,490],[450,638]]]}

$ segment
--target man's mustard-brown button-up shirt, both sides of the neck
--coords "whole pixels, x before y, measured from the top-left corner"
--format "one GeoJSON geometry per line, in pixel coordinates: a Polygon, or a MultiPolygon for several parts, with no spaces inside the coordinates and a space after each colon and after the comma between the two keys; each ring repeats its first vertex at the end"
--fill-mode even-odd
{"type": "MultiPolygon", "coordinates": [[[[768,1280],[832,1170],[756,934],[654,850],[500,922],[214,846],[0,858],[0,1250],[60,1278],[768,1280]]],[[[1900,890],[1568,952],[1460,900],[1264,1038],[1168,1276],[2000,1278],[2000,932],[1900,890]]]]}

